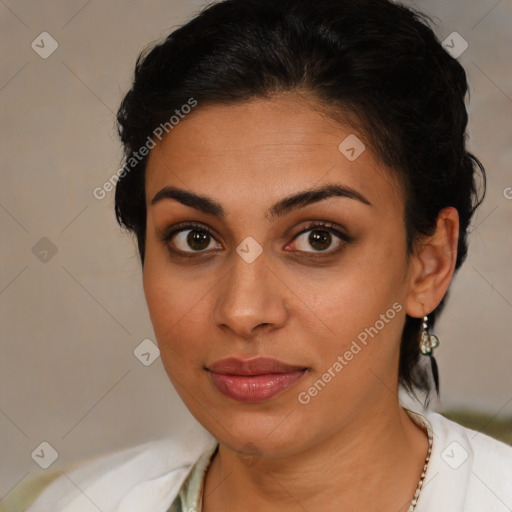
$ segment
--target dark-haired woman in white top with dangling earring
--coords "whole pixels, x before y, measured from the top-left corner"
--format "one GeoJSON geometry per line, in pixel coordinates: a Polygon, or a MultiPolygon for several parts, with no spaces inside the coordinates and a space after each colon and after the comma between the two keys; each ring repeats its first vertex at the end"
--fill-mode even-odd
{"type": "Polygon", "coordinates": [[[398,398],[438,391],[432,327],[481,201],[466,91],[387,0],[226,0],[141,56],[116,214],[206,432],[29,510],[509,510],[512,448],[398,398]]]}

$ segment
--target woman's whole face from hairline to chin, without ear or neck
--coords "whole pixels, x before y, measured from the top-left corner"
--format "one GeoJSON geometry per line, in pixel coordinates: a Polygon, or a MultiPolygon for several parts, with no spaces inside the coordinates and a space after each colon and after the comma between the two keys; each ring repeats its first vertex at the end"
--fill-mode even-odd
{"type": "Polygon", "coordinates": [[[150,152],[144,291],[162,361],[234,450],[295,453],[396,407],[404,202],[361,143],[289,95],[199,105],[150,152]],[[283,364],[242,364],[262,357],[283,364]]]}

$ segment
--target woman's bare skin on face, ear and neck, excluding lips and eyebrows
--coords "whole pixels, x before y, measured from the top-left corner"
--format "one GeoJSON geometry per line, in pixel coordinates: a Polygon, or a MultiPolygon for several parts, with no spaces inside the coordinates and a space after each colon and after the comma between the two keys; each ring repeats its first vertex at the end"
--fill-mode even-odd
{"type": "Polygon", "coordinates": [[[311,98],[281,94],[199,105],[150,152],[144,292],[172,383],[220,443],[206,476],[206,512],[399,512],[418,484],[428,441],[398,402],[400,336],[406,312],[422,317],[446,293],[458,216],[442,210],[434,235],[407,255],[401,186],[369,143],[355,161],[342,155],[349,134],[365,142],[311,98]],[[327,183],[371,205],[331,197],[276,220],[265,215],[283,197],[327,183]],[[166,186],[214,199],[225,218],[173,199],[151,205],[166,186]],[[340,245],[333,234],[322,252],[308,243],[311,232],[296,237],[320,220],[342,226],[352,241],[340,245]],[[212,230],[201,254],[185,238],[161,240],[183,221],[212,230]],[[263,250],[250,264],[236,252],[248,236],[263,250]],[[301,404],[298,394],[396,302],[401,311],[301,404]],[[268,356],[309,371],[293,388],[243,404],[222,395],[205,370],[230,356],[268,356]]]}

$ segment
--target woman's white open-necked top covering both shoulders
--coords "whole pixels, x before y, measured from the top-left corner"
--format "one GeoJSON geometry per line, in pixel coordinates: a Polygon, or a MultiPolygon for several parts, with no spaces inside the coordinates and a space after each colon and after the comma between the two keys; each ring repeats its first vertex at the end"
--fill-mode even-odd
{"type": "MultiPolygon", "coordinates": [[[[407,412],[433,433],[415,512],[512,510],[511,446],[433,411],[407,412]]],[[[190,482],[191,470],[199,468],[202,475],[205,455],[209,457],[215,445],[215,439],[197,425],[181,438],[151,441],[103,456],[66,471],[27,512],[167,512],[180,490],[183,496],[182,486],[190,482]]],[[[198,492],[198,485],[192,493],[187,491],[184,512],[199,503],[198,492]]]]}

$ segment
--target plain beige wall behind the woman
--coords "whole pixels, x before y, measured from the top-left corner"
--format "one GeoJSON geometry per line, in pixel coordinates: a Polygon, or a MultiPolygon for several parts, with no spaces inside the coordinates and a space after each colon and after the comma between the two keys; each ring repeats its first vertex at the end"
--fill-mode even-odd
{"type": "MultiPolygon", "coordinates": [[[[31,458],[42,441],[59,453],[55,469],[191,421],[160,359],[134,357],[154,339],[135,245],[115,223],[112,194],[92,191],[119,167],[114,113],[136,56],[202,5],[0,1],[0,499],[43,471],[31,458]],[[43,31],[59,44],[47,59],[31,48],[43,31]],[[57,249],[46,262],[32,249],[42,237],[57,249]]],[[[470,145],[489,177],[437,329],[439,405],[512,415],[512,4],[416,5],[442,40],[457,31],[469,43],[459,60],[470,145]]]]}

